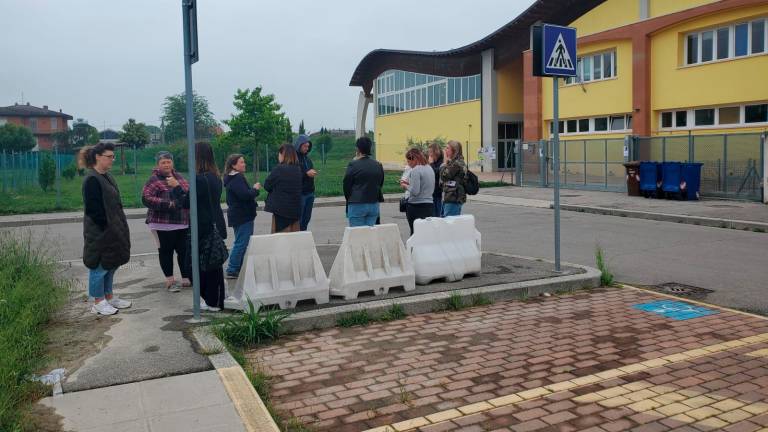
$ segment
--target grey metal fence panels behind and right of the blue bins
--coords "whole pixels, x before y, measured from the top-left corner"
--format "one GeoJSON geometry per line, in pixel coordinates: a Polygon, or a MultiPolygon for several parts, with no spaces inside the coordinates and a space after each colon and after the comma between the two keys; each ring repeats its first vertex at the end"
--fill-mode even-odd
{"type": "Polygon", "coordinates": [[[702,164],[704,196],[762,198],[765,134],[716,134],[635,138],[637,157],[659,162],[702,164]]]}

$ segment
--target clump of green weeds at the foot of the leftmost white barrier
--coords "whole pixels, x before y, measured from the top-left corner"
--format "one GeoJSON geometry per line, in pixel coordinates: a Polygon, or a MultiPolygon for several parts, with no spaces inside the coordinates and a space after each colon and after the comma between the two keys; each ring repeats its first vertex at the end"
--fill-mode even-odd
{"type": "Polygon", "coordinates": [[[262,311],[261,304],[248,299],[248,310],[240,315],[217,319],[213,329],[222,341],[237,347],[248,347],[278,339],[283,320],[289,315],[282,310],[262,311]]]}

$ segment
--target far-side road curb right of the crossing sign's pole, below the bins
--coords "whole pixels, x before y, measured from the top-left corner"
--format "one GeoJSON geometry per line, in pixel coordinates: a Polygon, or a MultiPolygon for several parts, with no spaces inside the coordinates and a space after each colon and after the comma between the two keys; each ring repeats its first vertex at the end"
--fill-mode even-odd
{"type": "MultiPolygon", "coordinates": [[[[551,207],[550,207],[551,208],[551,207]]],[[[699,225],[712,228],[728,228],[744,231],[764,231],[768,232],[768,223],[731,220],[731,219],[719,219],[709,218],[704,216],[688,216],[688,215],[675,215],[669,213],[652,213],[639,210],[623,210],[613,209],[606,207],[592,207],[592,206],[578,206],[578,205],[560,205],[561,210],[579,212],[579,213],[591,213],[607,216],[619,216],[628,217],[633,219],[646,219],[655,220],[661,222],[674,222],[688,225],[699,225]]]]}

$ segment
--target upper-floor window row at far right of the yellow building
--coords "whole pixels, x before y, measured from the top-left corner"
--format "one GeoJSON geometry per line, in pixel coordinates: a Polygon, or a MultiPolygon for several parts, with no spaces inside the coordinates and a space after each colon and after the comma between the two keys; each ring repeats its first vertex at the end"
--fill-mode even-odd
{"type": "Polygon", "coordinates": [[[765,18],[690,33],[685,37],[685,64],[764,54],[767,33],[765,18]]]}

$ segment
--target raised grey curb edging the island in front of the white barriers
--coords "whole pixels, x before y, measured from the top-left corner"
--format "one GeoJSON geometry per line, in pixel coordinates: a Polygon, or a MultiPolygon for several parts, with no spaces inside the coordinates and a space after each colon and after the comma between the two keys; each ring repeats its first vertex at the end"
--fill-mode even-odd
{"type": "MultiPolygon", "coordinates": [[[[497,252],[494,252],[497,253],[497,252]]],[[[519,255],[502,254],[513,258],[527,258],[519,255]]],[[[553,261],[544,260],[553,263],[553,261]]],[[[360,310],[367,310],[374,315],[385,312],[392,304],[399,304],[408,315],[430,313],[440,310],[452,293],[458,293],[463,299],[482,294],[493,301],[519,300],[536,297],[545,293],[573,292],[579,289],[597,288],[600,286],[600,271],[579,264],[563,263],[569,267],[583,269],[585,273],[533,281],[514,282],[499,285],[488,285],[478,288],[464,288],[457,291],[441,291],[428,294],[417,294],[387,300],[374,300],[364,303],[347,304],[305,312],[289,316],[283,323],[289,332],[303,332],[336,327],[336,321],[343,315],[360,310]]]]}

